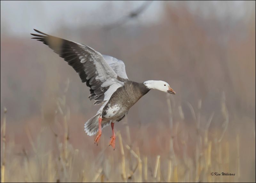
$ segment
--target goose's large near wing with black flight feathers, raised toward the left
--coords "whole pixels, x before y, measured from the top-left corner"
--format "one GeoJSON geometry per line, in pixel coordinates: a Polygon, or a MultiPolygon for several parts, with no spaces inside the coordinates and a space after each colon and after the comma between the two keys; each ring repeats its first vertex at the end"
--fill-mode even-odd
{"type": "Polygon", "coordinates": [[[127,80],[118,76],[104,57],[89,46],[34,30],[41,35],[31,34],[36,36],[32,39],[48,45],[76,70],[83,83],[86,82],[91,92],[89,99],[95,100],[94,105],[110,99],[116,89],[127,80]]]}

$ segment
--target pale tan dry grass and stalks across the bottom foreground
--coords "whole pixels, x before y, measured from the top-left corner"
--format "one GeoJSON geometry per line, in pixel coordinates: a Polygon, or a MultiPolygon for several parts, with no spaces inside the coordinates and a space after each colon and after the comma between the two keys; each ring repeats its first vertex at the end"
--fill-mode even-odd
{"type": "MultiPolygon", "coordinates": [[[[252,159],[252,156],[241,157],[243,134],[231,134],[225,125],[209,130],[214,113],[207,121],[200,121],[201,100],[195,108],[197,114],[191,106],[195,117],[191,126],[184,122],[180,106],[181,120],[176,121],[173,128],[160,122],[136,130],[124,123],[125,130],[116,133],[115,151],[108,147],[106,134],[98,147],[93,144],[93,138],[72,132],[71,121],[77,118],[70,116],[65,102],[60,105],[59,101],[56,102],[54,124],[47,123],[42,115],[35,119],[40,124],[33,120],[24,127],[27,147],[15,136],[9,136],[7,149],[3,148],[2,152],[7,169],[4,172],[2,168],[2,182],[239,182],[247,176],[253,179],[255,175],[253,166],[246,169],[246,174],[245,171],[241,174],[241,160],[252,159]],[[222,138],[221,134],[226,131],[230,138],[222,138]],[[15,153],[20,145],[22,151],[15,153]],[[235,173],[235,176],[212,176],[211,172],[235,173]]],[[[221,103],[225,124],[228,123],[228,111],[225,101],[221,103]]],[[[5,115],[1,128],[3,136],[5,115]]],[[[252,130],[248,131],[248,136],[255,138],[252,130]]],[[[253,140],[249,144],[255,145],[253,140]]]]}

